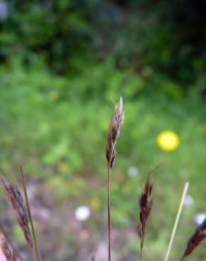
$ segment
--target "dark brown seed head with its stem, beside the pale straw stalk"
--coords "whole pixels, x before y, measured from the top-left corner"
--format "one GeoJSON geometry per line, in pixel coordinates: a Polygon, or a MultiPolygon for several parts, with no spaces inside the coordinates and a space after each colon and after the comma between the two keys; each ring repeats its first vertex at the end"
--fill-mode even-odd
{"type": "Polygon", "coordinates": [[[143,260],[143,245],[145,240],[145,231],[150,218],[152,209],[152,190],[153,185],[150,181],[150,174],[147,176],[145,188],[139,198],[140,220],[138,223],[138,236],[140,238],[140,260],[143,260]]]}

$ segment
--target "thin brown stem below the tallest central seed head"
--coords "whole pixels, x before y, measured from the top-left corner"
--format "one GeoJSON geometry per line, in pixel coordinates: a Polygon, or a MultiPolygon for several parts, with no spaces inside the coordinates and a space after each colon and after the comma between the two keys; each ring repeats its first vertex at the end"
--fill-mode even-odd
{"type": "Polygon", "coordinates": [[[110,163],[107,165],[107,213],[108,213],[108,260],[111,261],[111,168],[110,163]]]}

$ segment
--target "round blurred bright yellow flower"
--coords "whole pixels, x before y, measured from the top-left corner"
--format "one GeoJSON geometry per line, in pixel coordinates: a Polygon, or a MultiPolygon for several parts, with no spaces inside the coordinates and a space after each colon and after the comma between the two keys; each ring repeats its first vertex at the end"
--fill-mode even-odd
{"type": "Polygon", "coordinates": [[[164,130],[157,136],[157,144],[162,150],[176,150],[180,143],[178,135],[171,130],[164,130]]]}

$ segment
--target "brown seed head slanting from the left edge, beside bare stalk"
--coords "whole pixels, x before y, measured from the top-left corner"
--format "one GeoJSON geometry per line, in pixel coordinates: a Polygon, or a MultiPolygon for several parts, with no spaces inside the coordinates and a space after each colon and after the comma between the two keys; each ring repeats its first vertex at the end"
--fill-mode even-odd
{"type": "Polygon", "coordinates": [[[28,241],[30,248],[32,248],[33,243],[32,243],[32,236],[30,234],[30,228],[29,228],[28,210],[24,205],[23,196],[21,195],[18,188],[8,183],[3,176],[0,177],[0,181],[4,188],[4,193],[6,194],[6,198],[8,199],[8,202],[11,203],[11,206],[13,207],[13,210],[16,214],[18,224],[23,230],[25,239],[26,241],[28,241]]]}

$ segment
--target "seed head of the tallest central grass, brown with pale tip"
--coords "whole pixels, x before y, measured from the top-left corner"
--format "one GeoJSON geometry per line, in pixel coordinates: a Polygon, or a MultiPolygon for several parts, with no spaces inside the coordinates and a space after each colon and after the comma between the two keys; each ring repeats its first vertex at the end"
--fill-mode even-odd
{"type": "Polygon", "coordinates": [[[123,99],[120,97],[119,103],[114,107],[114,112],[111,118],[107,133],[106,157],[109,168],[112,169],[116,158],[116,142],[119,138],[121,126],[124,121],[123,99]]]}

